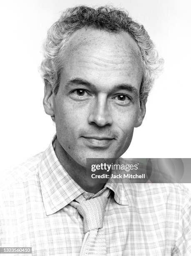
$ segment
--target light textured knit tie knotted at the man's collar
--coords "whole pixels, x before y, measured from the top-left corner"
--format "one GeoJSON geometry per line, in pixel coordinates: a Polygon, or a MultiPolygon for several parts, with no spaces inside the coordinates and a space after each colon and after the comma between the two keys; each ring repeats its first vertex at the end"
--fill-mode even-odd
{"type": "Polygon", "coordinates": [[[108,200],[107,195],[108,191],[104,191],[101,196],[89,200],[85,200],[83,195],[80,195],[75,199],[77,202],[70,203],[83,217],[85,236],[80,256],[106,256],[106,237],[103,228],[103,217],[108,200]]]}

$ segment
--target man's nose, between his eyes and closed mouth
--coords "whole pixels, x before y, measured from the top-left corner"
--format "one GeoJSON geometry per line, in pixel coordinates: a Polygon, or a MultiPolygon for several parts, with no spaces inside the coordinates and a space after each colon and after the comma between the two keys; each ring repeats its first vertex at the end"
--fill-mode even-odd
{"type": "Polygon", "coordinates": [[[108,109],[108,102],[106,95],[99,95],[90,110],[88,116],[88,123],[96,124],[98,126],[111,125],[113,119],[108,109]]]}

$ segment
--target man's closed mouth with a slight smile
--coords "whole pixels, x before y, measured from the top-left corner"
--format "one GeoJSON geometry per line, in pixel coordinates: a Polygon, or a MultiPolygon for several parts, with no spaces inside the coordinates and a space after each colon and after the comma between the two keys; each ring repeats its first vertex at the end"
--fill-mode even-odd
{"type": "Polygon", "coordinates": [[[85,143],[89,147],[93,147],[93,148],[95,147],[107,148],[108,146],[111,145],[111,143],[114,140],[114,138],[111,138],[111,137],[99,137],[99,136],[91,136],[91,137],[82,136],[82,138],[84,138],[85,143]]]}

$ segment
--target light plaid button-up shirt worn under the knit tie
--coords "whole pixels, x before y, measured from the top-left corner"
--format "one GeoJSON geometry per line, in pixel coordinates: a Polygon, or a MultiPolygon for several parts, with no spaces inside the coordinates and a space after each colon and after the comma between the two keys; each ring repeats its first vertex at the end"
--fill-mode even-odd
{"type": "Polygon", "coordinates": [[[0,246],[79,255],[83,218],[69,203],[104,189],[111,189],[103,224],[108,256],[191,255],[191,195],[182,184],[107,183],[93,195],[70,178],[52,143],[1,180],[0,246]]]}

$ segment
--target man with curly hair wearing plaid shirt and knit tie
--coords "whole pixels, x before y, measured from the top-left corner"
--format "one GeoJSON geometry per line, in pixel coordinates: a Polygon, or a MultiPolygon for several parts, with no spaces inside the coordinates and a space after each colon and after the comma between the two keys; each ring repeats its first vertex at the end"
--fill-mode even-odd
{"type": "Polygon", "coordinates": [[[86,176],[86,159],[119,158],[143,121],[161,64],[146,30],[123,11],[78,6],[49,29],[44,56],[43,105],[56,135],[3,180],[0,245],[46,256],[190,255],[181,184],[86,176]]]}

